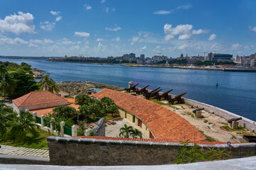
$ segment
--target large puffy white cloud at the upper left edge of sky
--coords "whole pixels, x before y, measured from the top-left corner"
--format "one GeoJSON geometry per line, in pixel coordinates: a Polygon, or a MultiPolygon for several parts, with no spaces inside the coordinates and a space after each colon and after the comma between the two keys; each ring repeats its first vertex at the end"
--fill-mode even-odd
{"type": "Polygon", "coordinates": [[[18,15],[6,16],[3,20],[0,19],[0,30],[2,32],[11,33],[35,33],[33,25],[33,15],[31,13],[18,12],[18,15]]]}

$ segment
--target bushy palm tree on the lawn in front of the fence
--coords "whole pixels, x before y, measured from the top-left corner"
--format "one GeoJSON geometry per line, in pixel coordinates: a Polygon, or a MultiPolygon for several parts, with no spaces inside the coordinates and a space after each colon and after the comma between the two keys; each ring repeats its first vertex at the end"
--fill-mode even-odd
{"type": "Polygon", "coordinates": [[[17,113],[14,114],[16,114],[16,117],[8,123],[7,139],[14,138],[15,142],[24,142],[28,133],[33,137],[38,137],[38,132],[35,129],[38,128],[38,125],[34,123],[31,113],[21,111],[19,115],[17,113]]]}

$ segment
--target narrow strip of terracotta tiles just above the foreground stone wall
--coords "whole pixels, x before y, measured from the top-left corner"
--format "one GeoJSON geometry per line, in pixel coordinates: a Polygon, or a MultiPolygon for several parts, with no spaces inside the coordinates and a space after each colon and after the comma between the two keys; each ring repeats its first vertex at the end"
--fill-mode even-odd
{"type": "MultiPolygon", "coordinates": [[[[103,136],[77,136],[80,138],[95,139],[95,140],[132,140],[132,141],[147,141],[147,142],[171,142],[171,140],[156,140],[156,139],[139,139],[125,137],[103,137],[103,136]]],[[[225,144],[225,142],[197,142],[202,145],[225,144]]]]}

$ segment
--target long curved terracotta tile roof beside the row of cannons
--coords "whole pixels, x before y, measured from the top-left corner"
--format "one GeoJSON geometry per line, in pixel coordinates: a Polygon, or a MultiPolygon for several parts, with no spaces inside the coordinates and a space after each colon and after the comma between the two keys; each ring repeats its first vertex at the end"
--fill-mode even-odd
{"type": "Polygon", "coordinates": [[[156,140],[169,140],[170,142],[180,142],[184,139],[189,139],[191,142],[206,140],[206,137],[187,120],[152,101],[110,89],[104,89],[91,96],[112,98],[117,106],[142,120],[156,140]]]}

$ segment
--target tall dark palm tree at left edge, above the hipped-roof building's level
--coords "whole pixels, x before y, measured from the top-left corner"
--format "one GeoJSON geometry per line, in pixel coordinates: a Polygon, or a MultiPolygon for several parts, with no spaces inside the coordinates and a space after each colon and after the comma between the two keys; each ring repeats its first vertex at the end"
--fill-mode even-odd
{"type": "Polygon", "coordinates": [[[16,89],[16,81],[11,77],[9,72],[5,72],[1,70],[0,73],[0,90],[4,94],[4,100],[6,94],[14,94],[14,90],[16,89]]]}

